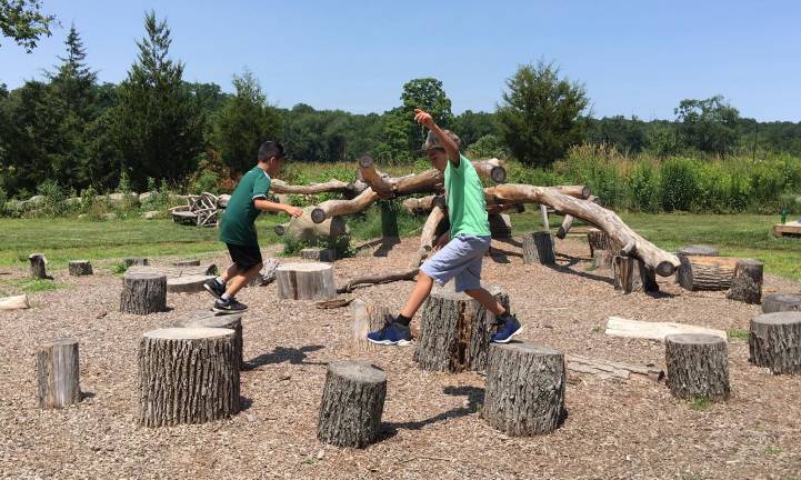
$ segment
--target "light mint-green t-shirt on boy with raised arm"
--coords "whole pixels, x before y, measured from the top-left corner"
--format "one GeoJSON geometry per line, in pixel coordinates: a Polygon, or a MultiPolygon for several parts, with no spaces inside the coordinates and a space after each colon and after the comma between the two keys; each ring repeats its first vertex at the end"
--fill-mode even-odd
{"type": "Polygon", "coordinates": [[[445,193],[448,194],[448,220],[451,238],[459,233],[489,237],[490,222],[487,220],[484,187],[479,173],[463,154],[459,154],[459,167],[448,160],[445,167],[445,193]]]}

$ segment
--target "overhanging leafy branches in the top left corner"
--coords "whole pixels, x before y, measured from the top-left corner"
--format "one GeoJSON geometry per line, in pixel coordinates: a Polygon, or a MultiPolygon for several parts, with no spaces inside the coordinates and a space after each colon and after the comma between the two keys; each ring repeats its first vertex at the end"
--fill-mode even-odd
{"type": "Polygon", "coordinates": [[[13,39],[28,53],[37,47],[41,36],[50,37],[56,17],[41,12],[40,0],[0,0],[0,31],[13,39]]]}

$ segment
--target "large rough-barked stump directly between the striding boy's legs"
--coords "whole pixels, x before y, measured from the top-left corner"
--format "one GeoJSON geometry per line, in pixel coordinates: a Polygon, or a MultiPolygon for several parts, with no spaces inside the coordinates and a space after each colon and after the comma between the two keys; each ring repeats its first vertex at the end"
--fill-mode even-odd
{"type": "MultiPolygon", "coordinates": [[[[509,310],[507,292],[484,288],[509,310]]],[[[495,316],[468,294],[434,291],[423,304],[414,361],[423,370],[484,370],[494,323],[495,316]]]]}

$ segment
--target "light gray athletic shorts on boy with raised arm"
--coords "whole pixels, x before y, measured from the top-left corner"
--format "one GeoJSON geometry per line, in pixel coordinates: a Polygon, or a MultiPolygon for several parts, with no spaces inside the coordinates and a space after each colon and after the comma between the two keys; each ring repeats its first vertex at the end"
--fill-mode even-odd
{"type": "Polygon", "coordinates": [[[439,284],[454,280],[455,291],[481,287],[481,262],[490,249],[490,237],[460,233],[420,267],[439,284]]]}

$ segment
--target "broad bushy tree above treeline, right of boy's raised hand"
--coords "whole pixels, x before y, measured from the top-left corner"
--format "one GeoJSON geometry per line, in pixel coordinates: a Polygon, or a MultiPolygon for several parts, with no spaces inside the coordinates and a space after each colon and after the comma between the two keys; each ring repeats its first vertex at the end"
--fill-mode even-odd
{"type": "Polygon", "coordinates": [[[558,68],[540,61],[521,66],[507,88],[497,117],[503,141],[521,162],[549,166],[581,142],[581,114],[589,104],[583,86],[560,79],[558,68]]]}

